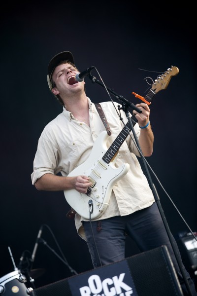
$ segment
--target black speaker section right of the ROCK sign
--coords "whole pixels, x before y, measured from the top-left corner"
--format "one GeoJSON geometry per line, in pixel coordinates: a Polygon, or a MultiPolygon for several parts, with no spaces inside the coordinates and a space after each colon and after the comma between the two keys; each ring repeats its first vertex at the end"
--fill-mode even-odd
{"type": "Polygon", "coordinates": [[[183,295],[165,246],[127,259],[138,296],[183,295]]]}

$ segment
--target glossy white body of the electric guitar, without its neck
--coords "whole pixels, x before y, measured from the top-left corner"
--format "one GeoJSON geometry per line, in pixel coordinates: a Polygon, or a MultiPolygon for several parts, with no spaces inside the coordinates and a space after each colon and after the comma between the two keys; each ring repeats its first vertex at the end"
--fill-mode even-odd
{"type": "Polygon", "coordinates": [[[109,164],[102,160],[103,155],[107,151],[107,138],[107,132],[101,132],[89,158],[68,175],[68,177],[89,176],[93,187],[90,187],[91,190],[88,195],[79,193],[75,189],[64,190],[67,203],[80,216],[88,220],[90,219],[89,201],[93,201],[91,219],[99,218],[109,204],[113,185],[129,171],[128,163],[123,163],[119,168],[115,167],[117,156],[109,164]]]}

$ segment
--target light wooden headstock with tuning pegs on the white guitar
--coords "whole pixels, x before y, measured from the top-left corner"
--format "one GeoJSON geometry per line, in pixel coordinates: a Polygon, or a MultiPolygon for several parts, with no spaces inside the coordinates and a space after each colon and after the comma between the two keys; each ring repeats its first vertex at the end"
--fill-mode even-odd
{"type": "Polygon", "coordinates": [[[176,76],[179,73],[179,69],[177,67],[168,68],[164,74],[159,75],[155,82],[152,84],[152,90],[155,93],[158,93],[160,90],[167,88],[168,83],[172,76],[176,76]]]}

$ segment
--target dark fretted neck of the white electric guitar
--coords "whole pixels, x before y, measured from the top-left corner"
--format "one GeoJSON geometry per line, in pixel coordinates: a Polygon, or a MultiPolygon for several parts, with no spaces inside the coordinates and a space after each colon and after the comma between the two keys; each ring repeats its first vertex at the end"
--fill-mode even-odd
{"type": "MultiPolygon", "coordinates": [[[[151,89],[148,92],[148,94],[145,96],[145,100],[150,103],[154,95],[155,95],[155,92],[151,89]]],[[[131,116],[131,122],[133,126],[137,122],[135,115],[131,116]]],[[[120,149],[121,145],[126,140],[130,132],[131,132],[131,126],[130,126],[130,122],[128,121],[127,124],[122,129],[122,131],[120,132],[120,134],[118,135],[118,137],[114,140],[112,145],[109,147],[109,149],[106,151],[106,153],[102,157],[103,161],[105,161],[106,163],[109,163],[112,160],[112,158],[120,149]]]]}

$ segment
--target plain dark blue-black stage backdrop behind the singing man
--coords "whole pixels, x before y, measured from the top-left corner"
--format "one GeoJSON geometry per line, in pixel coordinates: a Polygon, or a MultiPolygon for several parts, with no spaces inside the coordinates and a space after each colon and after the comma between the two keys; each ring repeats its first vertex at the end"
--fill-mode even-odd
{"type": "MultiPolygon", "coordinates": [[[[31,183],[38,138],[62,112],[48,88],[48,62],[65,50],[73,53],[80,71],[95,66],[104,83],[133,104],[140,101],[131,92],[145,96],[150,87],[145,77],[155,80],[170,66],[178,67],[179,74],[152,100],[155,145],[147,160],[169,195],[151,172],[172,233],[197,231],[193,8],[129,1],[4,5],[0,11],[0,277],[14,270],[8,246],[18,265],[24,251],[32,254],[43,224],[47,226],[42,238],[60,254],[55,237],[71,268],[77,273],[93,268],[74,220],[66,218],[70,207],[64,193],[37,191],[31,183]]],[[[94,103],[109,100],[102,87],[85,79],[87,96],[94,103]]],[[[126,257],[137,252],[128,238],[126,257]]],[[[33,274],[36,288],[73,275],[43,244],[38,245],[32,269],[38,269],[33,274]]]]}

